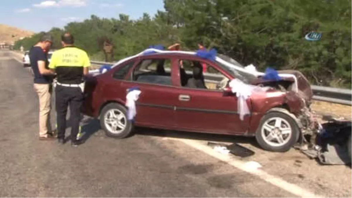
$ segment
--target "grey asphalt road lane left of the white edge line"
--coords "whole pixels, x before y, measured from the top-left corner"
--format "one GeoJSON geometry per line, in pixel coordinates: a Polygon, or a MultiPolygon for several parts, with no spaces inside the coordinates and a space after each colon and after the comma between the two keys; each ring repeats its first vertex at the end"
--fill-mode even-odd
{"type": "Polygon", "coordinates": [[[294,197],[182,143],[106,138],[94,120],[78,148],[40,142],[32,76],[8,51],[0,93],[0,197],[294,197]]]}

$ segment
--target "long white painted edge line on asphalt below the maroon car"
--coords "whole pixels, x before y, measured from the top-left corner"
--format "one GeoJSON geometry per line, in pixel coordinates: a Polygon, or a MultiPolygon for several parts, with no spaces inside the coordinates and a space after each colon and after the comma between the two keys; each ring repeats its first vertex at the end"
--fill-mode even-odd
{"type": "Polygon", "coordinates": [[[269,182],[270,184],[275,185],[279,188],[282,188],[283,190],[285,190],[291,194],[294,194],[296,196],[304,197],[304,198],[322,198],[323,197],[323,196],[314,194],[304,188],[301,188],[295,184],[291,184],[281,178],[275,177],[274,175],[270,175],[260,169],[248,166],[246,164],[246,162],[243,162],[243,161],[240,161],[237,159],[233,159],[233,157],[230,157],[231,155],[220,154],[220,153],[216,152],[214,149],[212,149],[206,145],[203,145],[197,141],[187,140],[187,139],[178,139],[178,138],[168,138],[168,139],[183,142],[183,143],[187,144],[188,146],[193,147],[195,149],[198,149],[200,151],[203,151],[204,153],[206,153],[210,156],[213,156],[221,161],[228,163],[229,165],[231,165],[235,168],[240,169],[241,171],[256,175],[260,179],[262,179],[266,182],[269,182]]]}

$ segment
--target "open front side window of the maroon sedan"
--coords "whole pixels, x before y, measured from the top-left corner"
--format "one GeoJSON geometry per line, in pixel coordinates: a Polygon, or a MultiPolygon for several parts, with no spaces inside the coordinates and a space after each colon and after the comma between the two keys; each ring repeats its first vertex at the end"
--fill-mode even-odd
{"type": "Polygon", "coordinates": [[[218,69],[201,61],[179,60],[182,87],[223,90],[229,79],[218,69]],[[194,69],[197,67],[198,69],[194,69]],[[184,71],[184,72],[183,72],[184,71]]]}

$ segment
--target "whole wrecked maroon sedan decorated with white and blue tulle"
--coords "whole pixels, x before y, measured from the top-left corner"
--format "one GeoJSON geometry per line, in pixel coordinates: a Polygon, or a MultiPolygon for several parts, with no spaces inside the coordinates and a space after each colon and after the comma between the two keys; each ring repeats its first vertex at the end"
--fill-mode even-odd
{"type": "Polygon", "coordinates": [[[125,58],[105,73],[90,74],[82,113],[99,118],[109,137],[124,138],[132,126],[143,126],[255,136],[263,149],[284,152],[312,134],[316,124],[307,79],[297,71],[278,73],[279,80],[266,79],[224,55],[211,59],[195,52],[155,50],[125,58]],[[231,87],[235,79],[243,84],[231,87]],[[141,92],[133,122],[125,106],[131,87],[141,92]],[[263,89],[243,100],[252,88],[263,89]]]}

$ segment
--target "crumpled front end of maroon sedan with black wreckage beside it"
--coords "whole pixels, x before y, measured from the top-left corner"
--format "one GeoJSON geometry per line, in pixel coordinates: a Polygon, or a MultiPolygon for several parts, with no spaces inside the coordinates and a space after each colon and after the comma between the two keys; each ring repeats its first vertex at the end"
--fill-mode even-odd
{"type": "Polygon", "coordinates": [[[301,130],[301,136],[295,149],[311,159],[317,159],[325,165],[345,165],[352,163],[352,122],[323,116],[319,119],[311,108],[313,91],[304,75],[295,70],[278,71],[294,74],[298,90],[293,90],[293,79],[276,82],[260,82],[257,85],[271,86],[286,92],[284,104],[295,116],[301,130]]]}

